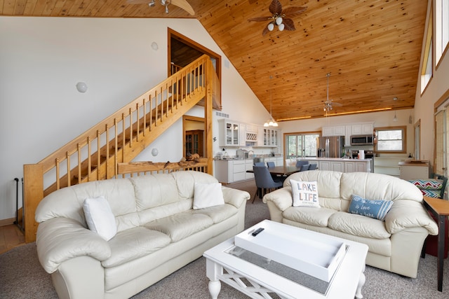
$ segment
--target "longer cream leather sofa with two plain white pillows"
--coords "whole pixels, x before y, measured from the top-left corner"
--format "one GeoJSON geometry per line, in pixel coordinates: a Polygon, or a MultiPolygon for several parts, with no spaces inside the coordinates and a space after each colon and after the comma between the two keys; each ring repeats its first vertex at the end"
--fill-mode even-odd
{"type": "Polygon", "coordinates": [[[36,209],[39,261],[60,298],[129,298],[241,232],[249,199],[193,171],[62,188],[36,209]],[[107,237],[107,221],[91,219],[105,200],[107,237]]]}

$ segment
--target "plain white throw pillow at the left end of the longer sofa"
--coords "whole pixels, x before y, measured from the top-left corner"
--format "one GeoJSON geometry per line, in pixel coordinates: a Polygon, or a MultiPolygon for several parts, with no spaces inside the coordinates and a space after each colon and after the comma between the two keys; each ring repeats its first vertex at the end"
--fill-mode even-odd
{"type": "Polygon", "coordinates": [[[117,233],[114,214],[104,196],[87,198],[83,204],[88,228],[109,241],[117,233]]]}

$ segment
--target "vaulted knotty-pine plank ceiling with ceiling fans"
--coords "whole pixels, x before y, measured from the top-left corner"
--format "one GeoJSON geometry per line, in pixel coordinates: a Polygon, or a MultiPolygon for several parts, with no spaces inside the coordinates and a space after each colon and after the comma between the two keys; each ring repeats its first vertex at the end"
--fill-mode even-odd
{"type": "MultiPolygon", "coordinates": [[[[188,0],[195,15],[170,5],[126,0],[4,0],[0,15],[91,18],[196,18],[276,120],[409,109],[415,103],[427,1],[279,0],[307,6],[296,30],[262,36],[272,0],[188,0]],[[271,78],[271,79],[270,79],[271,78]],[[397,100],[394,101],[394,97],[397,100]]],[[[149,2],[149,0],[148,0],[149,2]]]]}

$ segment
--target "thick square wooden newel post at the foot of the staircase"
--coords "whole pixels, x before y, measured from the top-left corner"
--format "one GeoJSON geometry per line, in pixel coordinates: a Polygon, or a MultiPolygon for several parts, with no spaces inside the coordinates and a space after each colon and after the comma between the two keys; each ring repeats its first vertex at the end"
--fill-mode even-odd
{"type": "Polygon", "coordinates": [[[36,207],[43,199],[43,165],[23,165],[23,209],[25,211],[25,242],[36,241],[36,207]]]}

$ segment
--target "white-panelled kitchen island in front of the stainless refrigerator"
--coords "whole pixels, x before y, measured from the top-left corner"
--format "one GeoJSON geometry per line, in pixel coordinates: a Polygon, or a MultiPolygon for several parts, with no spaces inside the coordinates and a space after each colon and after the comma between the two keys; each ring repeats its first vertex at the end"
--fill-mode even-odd
{"type": "Polygon", "coordinates": [[[372,172],[371,159],[344,159],[344,158],[298,158],[297,160],[316,163],[319,170],[332,170],[334,172],[372,172]]]}

